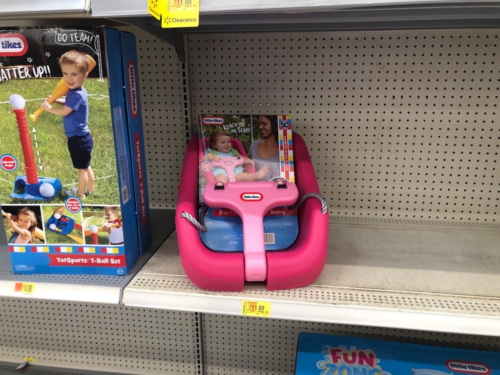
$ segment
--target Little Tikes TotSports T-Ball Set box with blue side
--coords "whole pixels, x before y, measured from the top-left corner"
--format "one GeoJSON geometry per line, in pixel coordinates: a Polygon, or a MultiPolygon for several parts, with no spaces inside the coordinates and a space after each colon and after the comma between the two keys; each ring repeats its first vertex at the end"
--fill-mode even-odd
{"type": "Polygon", "coordinates": [[[0,30],[0,204],[14,273],[124,275],[149,246],[138,81],[129,33],[0,30]],[[93,146],[88,136],[84,144],[68,138],[62,115],[40,110],[47,96],[53,101],[73,92],[66,83],[73,84],[72,72],[64,80],[58,64],[69,50],[89,61],[83,87],[93,146]],[[88,181],[92,173],[73,166],[71,157],[80,154],[74,142],[92,147],[94,190],[82,198],[75,192],[78,179],[88,181]]]}

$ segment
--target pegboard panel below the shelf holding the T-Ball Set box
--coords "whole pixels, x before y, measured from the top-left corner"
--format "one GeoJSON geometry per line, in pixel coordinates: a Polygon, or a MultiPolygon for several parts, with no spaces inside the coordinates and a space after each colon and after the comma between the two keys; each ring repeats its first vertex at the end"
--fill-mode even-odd
{"type": "Polygon", "coordinates": [[[1,298],[0,361],[123,374],[197,372],[189,312],[1,298]]]}

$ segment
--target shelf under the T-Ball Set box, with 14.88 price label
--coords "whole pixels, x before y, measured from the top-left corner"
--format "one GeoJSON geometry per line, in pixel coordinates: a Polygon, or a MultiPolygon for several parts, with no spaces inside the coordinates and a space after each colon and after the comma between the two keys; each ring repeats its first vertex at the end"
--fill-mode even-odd
{"type": "Polygon", "coordinates": [[[120,303],[125,285],[146,263],[174,228],[172,210],[151,210],[153,242],[126,276],[104,275],[22,275],[12,273],[6,244],[0,245],[0,296],[78,302],[120,303]],[[18,283],[34,284],[31,294],[16,288],[18,283]]]}

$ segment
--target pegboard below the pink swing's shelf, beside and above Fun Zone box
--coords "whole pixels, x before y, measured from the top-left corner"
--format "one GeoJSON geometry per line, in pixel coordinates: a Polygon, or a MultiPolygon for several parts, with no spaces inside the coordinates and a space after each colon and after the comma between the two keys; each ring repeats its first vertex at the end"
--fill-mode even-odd
{"type": "Polygon", "coordinates": [[[205,375],[293,375],[299,332],[500,351],[498,337],[203,314],[205,375]]]}

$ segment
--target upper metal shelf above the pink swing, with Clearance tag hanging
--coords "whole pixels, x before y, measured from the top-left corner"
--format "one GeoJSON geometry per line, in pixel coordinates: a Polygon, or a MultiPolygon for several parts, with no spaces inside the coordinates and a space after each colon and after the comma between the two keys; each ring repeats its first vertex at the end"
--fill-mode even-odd
{"type": "Polygon", "coordinates": [[[92,17],[135,25],[171,43],[172,34],[200,32],[421,29],[500,26],[498,1],[202,1],[198,27],[161,28],[145,3],[92,0],[92,17]],[[120,3],[121,4],[121,3],[120,3]],[[149,26],[147,26],[147,25],[149,26]]]}

